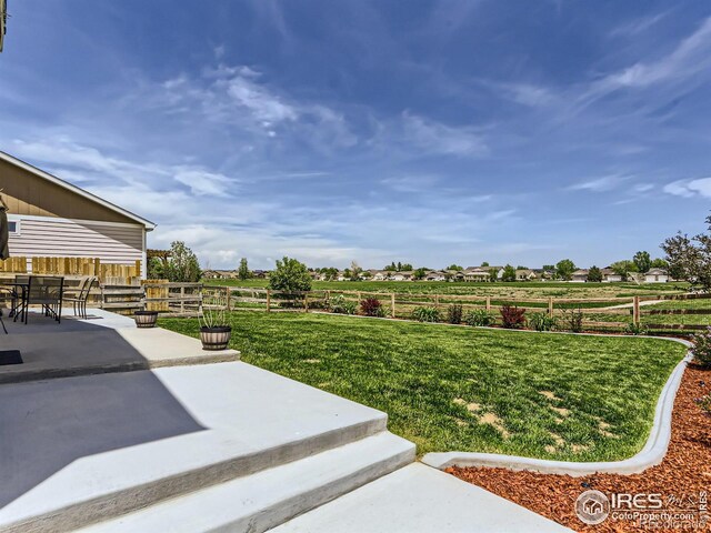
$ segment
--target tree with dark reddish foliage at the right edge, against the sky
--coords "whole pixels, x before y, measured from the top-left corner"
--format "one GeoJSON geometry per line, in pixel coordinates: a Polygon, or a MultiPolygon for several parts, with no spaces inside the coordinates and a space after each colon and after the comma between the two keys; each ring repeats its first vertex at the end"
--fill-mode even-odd
{"type": "Polygon", "coordinates": [[[667,253],[669,273],[672,278],[684,280],[700,286],[704,292],[711,291],[711,217],[705,219],[707,233],[689,238],[678,233],[667,239],[661,248],[667,253]]]}

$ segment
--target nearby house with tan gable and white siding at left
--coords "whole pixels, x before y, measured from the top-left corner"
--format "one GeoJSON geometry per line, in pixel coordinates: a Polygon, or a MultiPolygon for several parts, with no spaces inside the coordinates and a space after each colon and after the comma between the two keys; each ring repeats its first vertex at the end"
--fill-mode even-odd
{"type": "Polygon", "coordinates": [[[0,190],[8,203],[10,252],[31,258],[98,258],[141,264],[156,224],[8,153],[0,152],[0,190]]]}

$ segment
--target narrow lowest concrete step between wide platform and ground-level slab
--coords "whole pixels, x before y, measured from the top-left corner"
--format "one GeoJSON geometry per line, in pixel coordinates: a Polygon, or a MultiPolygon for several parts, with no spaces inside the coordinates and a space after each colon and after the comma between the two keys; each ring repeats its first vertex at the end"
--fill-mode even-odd
{"type": "Polygon", "coordinates": [[[260,533],[412,461],[414,444],[382,432],[169,500],[81,532],[260,533]]]}

